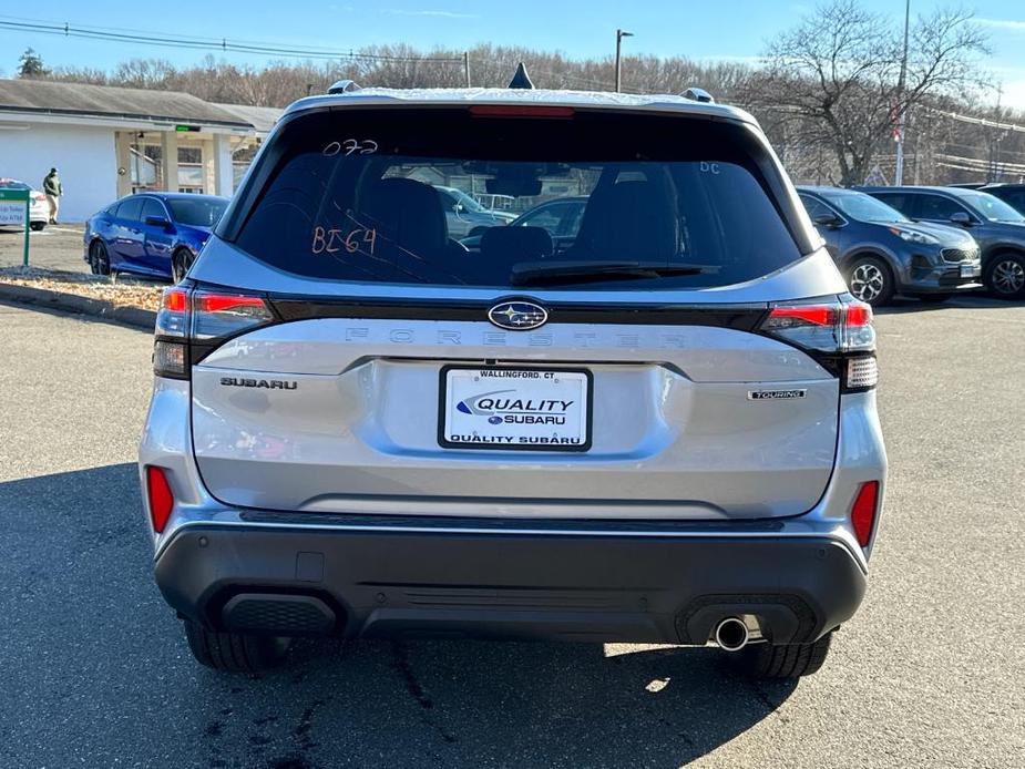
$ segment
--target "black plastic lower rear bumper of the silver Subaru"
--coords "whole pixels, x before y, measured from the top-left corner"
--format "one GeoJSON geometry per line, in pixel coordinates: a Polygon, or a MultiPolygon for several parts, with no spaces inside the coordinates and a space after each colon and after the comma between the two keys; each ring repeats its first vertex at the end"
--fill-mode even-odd
{"type": "Polygon", "coordinates": [[[447,525],[196,522],[161,550],[156,582],[215,629],[691,645],[732,615],[756,617],[772,643],[810,642],[849,619],[865,588],[848,543],[777,536],[780,524],[729,535],[447,525]]]}

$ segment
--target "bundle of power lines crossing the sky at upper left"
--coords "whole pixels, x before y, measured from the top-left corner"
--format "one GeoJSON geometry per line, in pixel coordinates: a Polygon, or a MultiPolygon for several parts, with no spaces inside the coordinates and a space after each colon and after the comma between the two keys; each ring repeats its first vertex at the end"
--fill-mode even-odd
{"type": "Polygon", "coordinates": [[[424,61],[441,63],[463,63],[462,57],[399,57],[377,53],[357,53],[352,50],[337,51],[321,47],[287,48],[275,43],[236,41],[227,38],[202,38],[183,35],[155,35],[142,30],[116,30],[102,27],[82,27],[68,22],[51,22],[39,19],[20,21],[20,17],[0,17],[0,29],[22,32],[37,32],[64,38],[104,40],[109,42],[140,43],[161,48],[180,48],[199,51],[221,51],[223,53],[258,53],[264,55],[296,57],[301,59],[350,59],[357,61],[424,61]]]}

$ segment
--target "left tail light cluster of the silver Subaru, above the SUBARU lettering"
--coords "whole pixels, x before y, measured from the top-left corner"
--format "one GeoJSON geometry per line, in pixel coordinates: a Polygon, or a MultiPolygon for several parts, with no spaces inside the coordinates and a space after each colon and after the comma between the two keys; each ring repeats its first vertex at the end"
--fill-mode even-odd
{"type": "Polygon", "coordinates": [[[275,319],[259,296],[165,288],[156,314],[153,371],[160,377],[188,379],[192,367],[225,341],[275,319]]]}

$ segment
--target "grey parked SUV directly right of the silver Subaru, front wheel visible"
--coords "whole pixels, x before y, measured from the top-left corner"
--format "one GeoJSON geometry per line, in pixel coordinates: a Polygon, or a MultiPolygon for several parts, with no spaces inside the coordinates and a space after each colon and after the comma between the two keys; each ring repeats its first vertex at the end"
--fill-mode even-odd
{"type": "Polygon", "coordinates": [[[933,304],[982,287],[978,246],[964,230],[914,223],[852,189],[798,187],[798,195],[858,299],[881,306],[906,294],[933,304]]]}

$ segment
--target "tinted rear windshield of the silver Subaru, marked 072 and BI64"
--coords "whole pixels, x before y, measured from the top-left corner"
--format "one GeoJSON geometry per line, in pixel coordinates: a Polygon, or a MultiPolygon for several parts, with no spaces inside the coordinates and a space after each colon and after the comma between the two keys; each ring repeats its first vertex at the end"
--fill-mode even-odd
{"type": "Polygon", "coordinates": [[[750,129],[549,110],[299,116],[265,148],[222,236],[286,273],[360,283],[701,288],[801,257],[750,129]],[[578,226],[529,226],[524,214],[560,198],[583,206],[578,226]]]}

